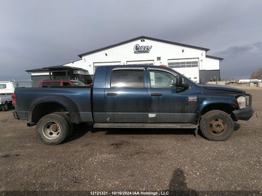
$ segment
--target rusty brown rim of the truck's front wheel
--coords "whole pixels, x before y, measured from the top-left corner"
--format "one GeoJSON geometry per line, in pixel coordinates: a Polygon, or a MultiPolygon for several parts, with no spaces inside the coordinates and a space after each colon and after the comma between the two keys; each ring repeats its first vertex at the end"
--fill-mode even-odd
{"type": "Polygon", "coordinates": [[[228,129],[228,124],[222,118],[214,118],[209,121],[208,130],[212,135],[223,135],[228,129]]]}

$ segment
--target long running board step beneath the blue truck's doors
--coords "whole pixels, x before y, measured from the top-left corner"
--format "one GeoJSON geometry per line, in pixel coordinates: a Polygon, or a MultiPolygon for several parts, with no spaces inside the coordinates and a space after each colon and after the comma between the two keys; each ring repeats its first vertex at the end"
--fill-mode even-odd
{"type": "Polygon", "coordinates": [[[94,128],[194,128],[190,123],[95,123],[94,128]]]}

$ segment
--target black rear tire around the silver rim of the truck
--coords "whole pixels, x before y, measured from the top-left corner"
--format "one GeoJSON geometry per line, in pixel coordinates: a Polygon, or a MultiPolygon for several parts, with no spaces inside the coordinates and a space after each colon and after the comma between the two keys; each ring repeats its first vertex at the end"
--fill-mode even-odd
{"type": "Polygon", "coordinates": [[[57,145],[63,142],[69,135],[70,126],[68,121],[60,114],[49,114],[43,116],[37,123],[36,126],[36,134],[38,139],[47,144],[47,145],[57,145]],[[49,139],[44,135],[44,125],[48,122],[56,122],[59,127],[61,128],[61,131],[59,133],[59,136],[55,139],[49,139]]]}

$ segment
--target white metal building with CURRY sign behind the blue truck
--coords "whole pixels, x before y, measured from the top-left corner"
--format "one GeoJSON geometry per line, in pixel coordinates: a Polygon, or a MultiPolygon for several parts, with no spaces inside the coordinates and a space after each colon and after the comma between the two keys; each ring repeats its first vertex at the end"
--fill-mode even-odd
{"type": "MultiPolygon", "coordinates": [[[[63,71],[66,73],[67,78],[75,78],[73,76],[78,74],[77,76],[80,78],[80,81],[83,81],[85,84],[91,82],[95,69],[98,66],[124,66],[134,64],[163,64],[184,74],[193,81],[207,82],[212,78],[219,81],[220,61],[222,61],[223,58],[206,55],[208,50],[210,49],[140,36],[111,46],[79,54],[80,60],[61,66],[63,68],[69,67],[69,69],[63,71]],[[72,68],[73,71],[70,72],[70,68],[72,68]],[[88,76],[88,78],[86,76],[88,76]]],[[[41,79],[39,76],[49,76],[50,79],[58,79],[56,76],[52,77],[52,75],[55,73],[54,69],[62,67],[53,66],[41,68],[45,70],[35,69],[27,70],[27,72],[31,72],[32,80],[34,79],[33,76],[37,76],[37,80],[41,79]]]]}

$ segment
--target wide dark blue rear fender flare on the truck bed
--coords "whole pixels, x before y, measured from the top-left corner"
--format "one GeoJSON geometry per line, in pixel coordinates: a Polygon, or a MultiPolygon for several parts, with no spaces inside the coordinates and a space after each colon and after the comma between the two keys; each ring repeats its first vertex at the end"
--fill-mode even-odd
{"type": "Polygon", "coordinates": [[[79,113],[79,108],[78,106],[68,97],[65,97],[63,95],[47,95],[43,96],[40,98],[36,98],[30,108],[29,108],[29,114],[28,114],[28,119],[30,122],[32,121],[32,114],[33,110],[35,107],[40,104],[40,103],[58,103],[62,105],[69,113],[69,116],[72,120],[73,123],[79,123],[82,122],[80,113],[79,113]]]}

